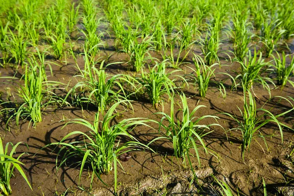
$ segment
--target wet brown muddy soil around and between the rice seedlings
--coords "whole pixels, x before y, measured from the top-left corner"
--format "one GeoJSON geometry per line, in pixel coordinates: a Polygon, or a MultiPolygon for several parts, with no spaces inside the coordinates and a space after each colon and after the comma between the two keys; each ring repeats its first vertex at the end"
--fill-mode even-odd
{"type": "MultiPolygon", "coordinates": [[[[111,43],[111,42],[110,42],[111,43]]],[[[199,52],[198,46],[195,45],[195,52],[199,52]]],[[[226,45],[222,46],[223,50],[227,49],[226,45]]],[[[293,49],[293,42],[289,43],[289,47],[293,49]]],[[[111,49],[112,46],[109,46],[111,49]]],[[[109,52],[103,49],[100,56],[104,56],[109,52]]],[[[293,52],[293,50],[292,50],[293,52]]],[[[156,52],[152,56],[159,58],[156,52]]],[[[60,81],[70,86],[76,83],[73,79],[78,70],[75,67],[73,59],[69,57],[65,63],[48,59],[52,64],[53,75],[49,76],[49,80],[60,81]],[[59,66],[55,65],[58,64],[59,66]]],[[[123,53],[114,52],[109,59],[109,63],[117,61],[128,61],[128,56],[123,53]]],[[[79,67],[82,69],[82,57],[77,59],[79,67]]],[[[185,62],[190,64],[182,65],[180,68],[184,71],[180,74],[191,73],[187,67],[193,67],[192,55],[189,55],[185,62]]],[[[221,60],[222,65],[217,72],[223,73],[228,70],[238,70],[238,64],[232,64],[225,59],[221,60]]],[[[110,74],[116,73],[132,73],[128,70],[127,64],[114,64],[107,69],[110,74]]],[[[170,69],[169,71],[172,71],[170,69]]],[[[11,68],[0,68],[1,76],[11,76],[14,74],[11,68]]],[[[178,73],[179,74],[179,73],[178,73]]],[[[225,75],[217,74],[215,80],[220,81],[225,75]]],[[[2,79],[3,81],[3,79],[2,79]]],[[[1,82],[2,82],[1,81],[1,82]]],[[[228,80],[226,85],[229,87],[231,82],[228,80]]],[[[2,86],[1,91],[6,92],[7,86],[2,86]]],[[[10,88],[11,89],[11,88],[10,88]]],[[[64,89],[66,92],[68,89],[64,89]]],[[[165,140],[157,141],[150,147],[157,153],[146,151],[132,152],[132,158],[129,161],[121,162],[123,169],[118,172],[118,189],[121,195],[217,195],[218,187],[211,177],[214,174],[218,179],[225,181],[232,189],[234,194],[240,195],[263,195],[262,178],[267,184],[268,194],[286,195],[293,193],[294,166],[287,159],[290,151],[293,149],[294,133],[291,130],[284,130],[284,142],[281,143],[278,127],[274,123],[268,124],[260,130],[265,137],[267,146],[262,138],[255,138],[257,142],[253,142],[250,153],[245,153],[245,160],[241,157],[241,133],[240,131],[228,131],[237,126],[236,122],[221,113],[227,112],[241,117],[238,107],[243,107],[242,90],[230,91],[227,88],[226,98],[220,96],[217,87],[210,86],[206,98],[199,98],[197,90],[193,85],[185,87],[184,92],[188,98],[190,109],[196,105],[205,105],[197,111],[196,116],[217,115],[220,117],[218,123],[220,126],[212,127],[213,132],[204,137],[205,144],[210,149],[208,154],[203,151],[201,155],[201,166],[197,163],[196,158],[192,159],[193,167],[198,176],[198,182],[192,181],[192,173],[189,165],[182,164],[182,159],[176,159],[172,156],[172,144],[165,140]]],[[[12,92],[13,93],[13,92],[12,92]]],[[[64,95],[64,92],[58,92],[64,95]]],[[[266,109],[272,109],[272,113],[277,115],[290,109],[291,106],[286,101],[277,103],[278,99],[270,98],[269,93],[261,86],[254,86],[256,94],[257,107],[264,106],[266,109]],[[268,101],[268,102],[267,102],[268,101]]],[[[280,88],[271,91],[271,97],[274,96],[291,96],[294,95],[294,89],[286,86],[283,91],[280,88]]],[[[176,96],[175,109],[179,109],[180,98],[176,96]],[[179,104],[178,104],[179,103],[179,104]]],[[[133,110],[129,109],[115,118],[112,123],[116,123],[125,118],[142,117],[155,121],[160,121],[160,115],[154,115],[159,111],[169,114],[170,102],[165,98],[165,102],[158,110],[155,110],[150,103],[146,101],[132,101],[133,110]]],[[[123,108],[120,108],[123,111],[123,108]]],[[[56,170],[56,156],[59,148],[42,147],[60,141],[66,134],[72,131],[88,130],[78,124],[69,124],[64,127],[65,123],[76,118],[83,118],[89,121],[94,120],[95,108],[88,110],[78,107],[63,108],[47,108],[44,112],[43,121],[38,123],[36,128],[28,126],[28,122],[22,123],[18,128],[11,128],[10,132],[5,132],[2,123],[1,136],[6,142],[23,141],[24,144],[17,148],[17,154],[27,152],[20,160],[25,164],[23,167],[25,173],[32,184],[33,191],[29,189],[25,180],[19,172],[15,172],[15,176],[11,179],[12,196],[54,196],[66,193],[67,195],[97,195],[109,196],[113,194],[114,174],[103,174],[102,180],[108,185],[105,186],[97,178],[93,184],[93,189],[89,190],[91,171],[84,170],[79,181],[79,168],[75,168],[76,159],[70,160],[66,166],[64,165],[58,171],[56,170]],[[25,144],[26,143],[26,144],[25,144]],[[28,148],[27,148],[28,147],[28,148]],[[84,191],[83,191],[84,190],[84,191]]],[[[176,110],[175,110],[176,111],[176,110]]],[[[175,115],[180,116],[180,113],[175,115]]],[[[289,113],[285,118],[280,120],[289,126],[293,126],[294,112],[289,113]]],[[[215,123],[212,119],[201,121],[203,124],[215,123]]],[[[158,136],[158,124],[149,123],[150,127],[138,126],[131,134],[140,142],[147,144],[149,141],[158,136]]],[[[70,138],[67,142],[74,140],[82,140],[82,138],[70,138]]],[[[121,142],[125,142],[125,138],[121,138],[121,142]]],[[[62,156],[62,155],[60,155],[62,156]]]]}

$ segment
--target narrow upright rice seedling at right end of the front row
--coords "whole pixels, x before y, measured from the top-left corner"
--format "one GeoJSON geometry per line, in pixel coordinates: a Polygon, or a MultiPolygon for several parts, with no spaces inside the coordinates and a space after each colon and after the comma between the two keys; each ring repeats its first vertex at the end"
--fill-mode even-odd
{"type": "MultiPolygon", "coordinates": [[[[258,141],[255,138],[257,138],[257,137],[262,138],[265,142],[266,147],[268,147],[266,139],[265,139],[266,136],[264,136],[260,130],[268,123],[276,123],[277,124],[277,127],[280,131],[281,141],[283,142],[283,128],[282,127],[287,127],[287,128],[290,128],[290,127],[288,127],[284,123],[281,123],[278,120],[278,118],[286,115],[287,113],[291,112],[293,109],[288,110],[288,111],[283,112],[278,115],[273,115],[270,112],[270,110],[266,110],[264,108],[257,108],[255,99],[252,96],[251,92],[249,90],[247,90],[245,87],[243,89],[244,89],[243,111],[238,107],[238,109],[241,113],[242,119],[239,119],[238,117],[233,116],[232,114],[229,114],[229,113],[224,113],[224,114],[231,117],[238,124],[237,128],[232,128],[230,130],[237,130],[237,131],[239,130],[242,133],[241,152],[242,152],[242,158],[244,159],[245,151],[247,151],[248,153],[250,152],[250,146],[251,146],[253,140],[258,143],[258,141]],[[248,98],[247,98],[247,95],[248,95],[248,98]],[[259,113],[262,113],[262,114],[259,115],[259,113]]],[[[259,146],[262,147],[260,144],[259,144],[259,146]]]]}

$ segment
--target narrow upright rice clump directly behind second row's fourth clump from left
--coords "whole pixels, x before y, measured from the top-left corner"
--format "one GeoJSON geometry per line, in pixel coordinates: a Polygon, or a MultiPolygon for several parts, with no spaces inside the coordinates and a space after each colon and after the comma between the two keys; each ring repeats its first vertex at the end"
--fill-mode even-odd
{"type": "Polygon", "coordinates": [[[220,49],[220,36],[218,27],[209,27],[205,38],[200,42],[202,53],[207,65],[212,65],[215,61],[220,61],[218,57],[218,50],[220,49]]]}

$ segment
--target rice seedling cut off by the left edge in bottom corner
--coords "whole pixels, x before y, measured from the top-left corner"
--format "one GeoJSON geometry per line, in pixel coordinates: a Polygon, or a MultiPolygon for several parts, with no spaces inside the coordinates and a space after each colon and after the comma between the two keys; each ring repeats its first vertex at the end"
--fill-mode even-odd
{"type": "Polygon", "coordinates": [[[12,193],[10,179],[15,169],[20,172],[29,188],[33,190],[28,179],[25,176],[25,172],[21,167],[21,165],[25,164],[19,161],[19,159],[25,154],[25,152],[21,153],[17,158],[13,158],[13,154],[15,153],[16,148],[20,144],[22,144],[22,142],[19,142],[16,145],[13,145],[9,142],[4,148],[2,144],[2,139],[0,138],[0,191],[4,196],[9,196],[12,193]],[[11,145],[12,147],[10,153],[8,152],[9,145],[11,145]]]}

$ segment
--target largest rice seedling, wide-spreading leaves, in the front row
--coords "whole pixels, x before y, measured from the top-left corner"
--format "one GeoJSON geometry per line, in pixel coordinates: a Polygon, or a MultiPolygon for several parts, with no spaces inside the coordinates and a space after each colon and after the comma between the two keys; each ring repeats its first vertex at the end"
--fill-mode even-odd
{"type": "MultiPolygon", "coordinates": [[[[45,146],[62,146],[57,154],[57,158],[62,151],[66,150],[58,167],[56,158],[56,167],[59,169],[71,157],[81,158],[82,160],[75,161],[75,163],[80,166],[79,180],[84,167],[86,167],[86,165],[90,166],[89,169],[92,171],[90,188],[92,188],[95,176],[97,176],[99,180],[102,181],[100,175],[102,173],[108,173],[114,169],[116,192],[117,163],[121,165],[117,157],[131,150],[150,149],[129,134],[129,132],[132,131],[136,126],[148,126],[146,124],[148,120],[142,118],[131,118],[124,119],[121,122],[112,125],[112,120],[117,116],[114,115],[113,112],[116,110],[118,105],[123,102],[125,101],[116,102],[113,106],[111,106],[108,112],[103,115],[102,121],[99,121],[99,113],[96,113],[93,123],[90,123],[84,119],[75,119],[69,123],[66,123],[65,126],[70,123],[81,124],[90,129],[90,131],[88,133],[84,133],[83,131],[73,131],[63,137],[60,142],[51,143],[45,146]],[[73,135],[81,135],[84,137],[84,140],[66,143],[66,139],[73,135]],[[130,139],[130,141],[122,144],[120,140],[121,136],[127,137],[130,139]]],[[[152,149],[150,150],[153,151],[152,149]]]]}

